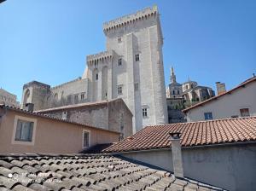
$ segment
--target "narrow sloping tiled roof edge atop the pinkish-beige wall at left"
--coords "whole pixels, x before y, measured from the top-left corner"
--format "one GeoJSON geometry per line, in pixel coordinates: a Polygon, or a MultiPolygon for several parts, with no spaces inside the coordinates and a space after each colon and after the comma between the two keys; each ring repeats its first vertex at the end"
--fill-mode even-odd
{"type": "MultiPolygon", "coordinates": [[[[26,111],[25,109],[20,109],[18,107],[12,107],[12,106],[8,106],[8,105],[4,105],[4,104],[0,104],[0,108],[13,110],[13,111],[19,112],[19,113],[26,113],[28,115],[38,116],[38,117],[41,117],[41,118],[44,118],[44,119],[57,120],[57,121],[61,121],[61,122],[68,123],[68,124],[78,124],[78,125],[82,125],[84,127],[89,127],[89,128],[96,129],[96,130],[105,130],[105,129],[102,129],[102,128],[90,126],[89,124],[81,124],[81,123],[71,121],[71,120],[67,120],[67,119],[59,119],[59,118],[55,118],[55,117],[49,116],[49,115],[44,114],[44,113],[30,112],[30,111],[26,111]]],[[[119,132],[113,131],[113,130],[105,130],[105,131],[119,134],[119,132]]]]}

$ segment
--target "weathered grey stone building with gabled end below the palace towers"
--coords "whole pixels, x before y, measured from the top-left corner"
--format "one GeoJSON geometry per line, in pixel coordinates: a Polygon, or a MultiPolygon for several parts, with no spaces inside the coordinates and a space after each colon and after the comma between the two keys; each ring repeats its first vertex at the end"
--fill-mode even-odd
{"type": "Polygon", "coordinates": [[[120,132],[120,139],[132,135],[132,113],[122,99],[80,103],[36,111],[57,119],[75,121],[120,132]]]}

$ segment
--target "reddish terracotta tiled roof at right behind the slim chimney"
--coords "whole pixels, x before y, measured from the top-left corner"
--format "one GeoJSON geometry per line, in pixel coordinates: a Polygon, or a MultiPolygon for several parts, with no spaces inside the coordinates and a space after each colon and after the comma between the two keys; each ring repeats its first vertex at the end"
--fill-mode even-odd
{"type": "Polygon", "coordinates": [[[181,132],[183,147],[256,142],[256,117],[148,126],[103,152],[170,148],[170,132],[181,132]]]}

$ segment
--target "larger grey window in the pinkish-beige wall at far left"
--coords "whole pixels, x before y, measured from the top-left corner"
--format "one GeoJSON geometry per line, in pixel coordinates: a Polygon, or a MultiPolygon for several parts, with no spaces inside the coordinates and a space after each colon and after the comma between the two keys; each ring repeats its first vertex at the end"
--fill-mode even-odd
{"type": "Polygon", "coordinates": [[[15,132],[15,141],[32,142],[34,122],[18,119],[15,132]]]}

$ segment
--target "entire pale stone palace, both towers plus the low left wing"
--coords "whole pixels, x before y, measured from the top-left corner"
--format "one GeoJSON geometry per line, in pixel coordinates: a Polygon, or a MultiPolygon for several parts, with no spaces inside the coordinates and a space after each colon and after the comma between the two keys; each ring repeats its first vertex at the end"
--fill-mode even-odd
{"type": "Polygon", "coordinates": [[[157,7],[106,22],[103,32],[107,50],[86,57],[83,78],[54,88],[38,82],[26,84],[22,107],[32,102],[40,110],[122,98],[133,113],[133,132],[148,124],[166,124],[163,37],[157,7]]]}

